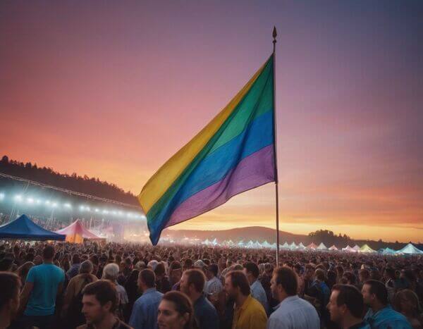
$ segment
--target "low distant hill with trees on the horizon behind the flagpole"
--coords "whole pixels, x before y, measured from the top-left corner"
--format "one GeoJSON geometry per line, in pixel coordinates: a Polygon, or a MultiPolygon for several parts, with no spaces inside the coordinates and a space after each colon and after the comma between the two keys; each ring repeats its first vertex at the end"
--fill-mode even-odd
{"type": "MultiPolygon", "coordinates": [[[[259,242],[267,241],[270,244],[276,242],[276,230],[272,228],[264,228],[262,226],[250,226],[246,228],[233,228],[231,230],[164,230],[162,237],[173,238],[174,240],[181,240],[184,237],[198,238],[202,241],[209,239],[213,240],[216,238],[219,242],[224,240],[232,240],[233,242],[238,242],[244,240],[248,242],[256,240],[259,242]]],[[[331,247],[332,244],[335,244],[336,247],[346,247],[347,244],[350,244],[353,247],[355,244],[358,244],[360,247],[363,244],[368,244],[372,249],[380,249],[385,247],[391,247],[393,249],[401,249],[405,247],[406,243],[402,242],[384,242],[382,240],[354,240],[348,237],[347,235],[333,235],[333,232],[328,230],[318,230],[316,232],[311,232],[309,235],[299,235],[293,234],[290,232],[279,231],[279,241],[281,244],[288,242],[291,244],[295,242],[299,244],[302,242],[304,245],[314,242],[315,244],[320,244],[324,242],[326,247],[331,247]]],[[[423,244],[415,243],[419,248],[423,248],[423,244]]]]}

